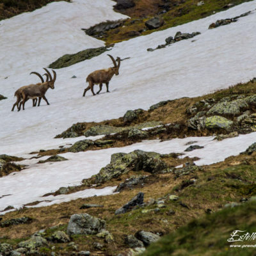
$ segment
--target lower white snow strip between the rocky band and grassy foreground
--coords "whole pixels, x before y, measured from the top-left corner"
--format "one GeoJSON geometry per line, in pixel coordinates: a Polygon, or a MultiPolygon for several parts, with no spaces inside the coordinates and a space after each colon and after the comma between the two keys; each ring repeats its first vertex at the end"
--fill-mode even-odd
{"type": "MultiPolygon", "coordinates": [[[[18,173],[11,173],[6,177],[0,178],[1,195],[9,195],[0,198],[0,211],[8,205],[16,208],[22,205],[35,202],[50,200],[51,202],[41,202],[35,207],[51,204],[60,204],[76,198],[98,195],[109,195],[115,188],[86,189],[79,193],[70,195],[42,197],[46,193],[58,190],[62,186],[76,186],[81,184],[81,180],[92,177],[99,172],[100,168],[109,163],[111,154],[117,152],[129,153],[140,149],[154,151],[160,154],[171,152],[184,153],[185,156],[199,157],[196,164],[212,164],[223,161],[228,156],[236,156],[246,150],[255,141],[256,132],[240,135],[236,138],[229,138],[223,141],[213,140],[214,137],[190,137],[184,139],[173,139],[170,141],[159,142],[159,140],[143,141],[128,147],[108,148],[104,150],[93,150],[79,153],[60,154],[68,159],[57,163],[35,164],[35,159],[23,161],[30,164],[29,168],[18,173]],[[196,145],[204,148],[184,152],[188,147],[189,141],[196,141],[196,145]],[[93,194],[93,195],[95,195],[93,194]]],[[[20,162],[22,164],[22,162],[20,162]]]]}

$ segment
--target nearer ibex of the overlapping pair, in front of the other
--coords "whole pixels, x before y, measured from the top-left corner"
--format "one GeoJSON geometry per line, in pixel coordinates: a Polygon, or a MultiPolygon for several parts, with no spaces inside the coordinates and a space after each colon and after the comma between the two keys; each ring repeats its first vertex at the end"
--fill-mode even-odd
{"type": "Polygon", "coordinates": [[[22,100],[22,102],[20,102],[20,106],[19,106],[18,111],[20,111],[21,104],[23,106],[23,110],[25,109],[24,105],[25,105],[25,102],[28,99],[39,98],[39,101],[38,101],[38,106],[39,106],[40,101],[43,98],[46,101],[47,105],[50,105],[48,100],[45,98],[45,93],[47,92],[47,90],[49,88],[54,89],[54,83],[56,81],[56,72],[54,70],[52,70],[52,72],[54,74],[53,79],[52,79],[51,73],[46,68],[44,68],[44,70],[48,74],[48,76],[50,78],[50,81],[47,81],[47,82],[44,82],[44,83],[38,83],[38,84],[30,84],[29,86],[24,88],[21,92],[23,100],[22,100]]]}

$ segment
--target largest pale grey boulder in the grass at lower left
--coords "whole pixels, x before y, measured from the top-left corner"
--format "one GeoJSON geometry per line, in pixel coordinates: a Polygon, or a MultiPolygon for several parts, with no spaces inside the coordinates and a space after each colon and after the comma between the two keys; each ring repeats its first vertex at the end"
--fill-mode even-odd
{"type": "Polygon", "coordinates": [[[97,234],[106,226],[104,220],[95,218],[90,214],[73,214],[68,222],[68,236],[75,234],[97,234]]]}

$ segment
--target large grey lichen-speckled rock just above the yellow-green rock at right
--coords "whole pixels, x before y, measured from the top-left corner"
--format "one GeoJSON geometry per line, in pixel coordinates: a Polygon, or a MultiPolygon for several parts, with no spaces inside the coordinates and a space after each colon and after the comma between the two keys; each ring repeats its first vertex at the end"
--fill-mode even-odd
{"type": "Polygon", "coordinates": [[[232,100],[231,102],[219,102],[215,104],[208,112],[207,115],[227,115],[236,116],[241,114],[243,109],[248,109],[248,104],[244,99],[232,100]]]}

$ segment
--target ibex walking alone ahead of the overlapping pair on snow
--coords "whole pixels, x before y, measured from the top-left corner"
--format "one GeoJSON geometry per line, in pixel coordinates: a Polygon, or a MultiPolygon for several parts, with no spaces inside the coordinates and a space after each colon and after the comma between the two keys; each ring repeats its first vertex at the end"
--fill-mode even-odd
{"type": "MultiPolygon", "coordinates": [[[[92,94],[95,95],[95,93],[93,92],[94,84],[100,84],[99,92],[102,89],[102,84],[106,84],[107,92],[109,92],[109,90],[108,90],[109,81],[111,80],[111,78],[114,75],[118,76],[118,74],[119,74],[118,70],[119,70],[119,67],[120,67],[120,58],[117,57],[118,63],[116,65],[115,59],[110,54],[108,54],[108,56],[113,61],[114,67],[95,70],[91,74],[89,74],[88,77],[86,78],[86,82],[88,82],[89,85],[86,89],[84,89],[83,97],[84,97],[85,93],[90,89],[92,91],[92,94]]],[[[99,94],[99,92],[97,92],[97,94],[99,94]]]]}

